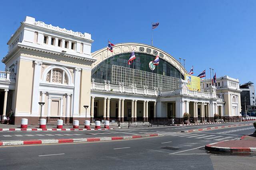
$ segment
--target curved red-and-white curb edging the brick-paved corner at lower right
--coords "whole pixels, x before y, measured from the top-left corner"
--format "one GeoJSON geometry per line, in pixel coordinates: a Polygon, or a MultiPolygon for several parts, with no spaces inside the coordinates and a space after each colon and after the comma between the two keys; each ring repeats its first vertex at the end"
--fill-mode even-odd
{"type": "Polygon", "coordinates": [[[254,147],[216,147],[216,146],[212,146],[214,144],[217,143],[222,143],[225,141],[221,141],[221,142],[216,142],[216,143],[211,143],[208,145],[205,145],[205,149],[207,150],[212,150],[212,151],[220,151],[220,152],[256,152],[256,148],[254,147]]]}

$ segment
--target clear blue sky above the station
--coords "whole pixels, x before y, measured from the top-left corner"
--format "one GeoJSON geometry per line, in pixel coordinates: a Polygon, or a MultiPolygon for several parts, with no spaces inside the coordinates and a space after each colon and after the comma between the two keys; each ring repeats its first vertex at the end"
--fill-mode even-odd
{"type": "MultiPolygon", "coordinates": [[[[92,34],[92,52],[112,43],[151,44],[194,65],[197,76],[209,67],[217,77],[256,83],[255,0],[5,0],[0,5],[0,58],[7,41],[26,16],[73,31],[92,34]]],[[[3,63],[0,70],[4,70],[3,63]]]]}

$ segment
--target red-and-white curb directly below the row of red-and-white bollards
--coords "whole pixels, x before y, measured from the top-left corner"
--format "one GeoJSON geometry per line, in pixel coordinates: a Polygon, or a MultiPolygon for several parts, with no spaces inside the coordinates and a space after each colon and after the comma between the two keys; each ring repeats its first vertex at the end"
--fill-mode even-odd
{"type": "Polygon", "coordinates": [[[52,129],[40,129],[40,128],[0,128],[0,131],[100,131],[100,130],[110,130],[114,128],[100,128],[100,129],[85,129],[85,128],[79,128],[79,129],[57,129],[57,128],[52,128],[52,129]]]}

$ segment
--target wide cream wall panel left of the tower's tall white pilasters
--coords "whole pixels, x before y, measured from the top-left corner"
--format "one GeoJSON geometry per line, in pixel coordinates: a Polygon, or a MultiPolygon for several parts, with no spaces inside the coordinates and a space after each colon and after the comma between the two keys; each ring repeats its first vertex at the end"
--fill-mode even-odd
{"type": "Polygon", "coordinates": [[[18,61],[16,74],[15,112],[30,113],[32,104],[34,64],[32,61],[18,61]]]}

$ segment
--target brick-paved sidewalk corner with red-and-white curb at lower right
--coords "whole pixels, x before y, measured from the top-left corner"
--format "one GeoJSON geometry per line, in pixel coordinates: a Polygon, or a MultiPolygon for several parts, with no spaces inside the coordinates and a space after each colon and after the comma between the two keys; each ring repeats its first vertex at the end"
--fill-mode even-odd
{"type": "Polygon", "coordinates": [[[246,135],[240,140],[221,141],[205,146],[205,149],[220,152],[256,152],[256,135],[246,135]]]}

